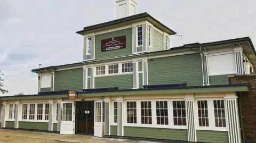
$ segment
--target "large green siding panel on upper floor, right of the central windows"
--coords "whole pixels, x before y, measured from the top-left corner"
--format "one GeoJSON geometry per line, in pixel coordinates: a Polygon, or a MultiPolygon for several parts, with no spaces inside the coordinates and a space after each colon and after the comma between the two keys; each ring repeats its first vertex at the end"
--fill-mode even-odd
{"type": "Polygon", "coordinates": [[[154,58],[148,61],[149,85],[187,82],[188,86],[202,86],[202,62],[197,54],[154,58]]]}

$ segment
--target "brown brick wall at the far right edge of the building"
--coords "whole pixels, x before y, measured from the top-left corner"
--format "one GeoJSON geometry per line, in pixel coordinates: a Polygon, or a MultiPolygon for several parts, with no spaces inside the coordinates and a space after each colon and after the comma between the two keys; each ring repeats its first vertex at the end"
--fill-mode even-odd
{"type": "Polygon", "coordinates": [[[241,100],[244,138],[246,142],[256,142],[256,74],[231,78],[232,83],[251,83],[251,91],[243,93],[241,100]]]}

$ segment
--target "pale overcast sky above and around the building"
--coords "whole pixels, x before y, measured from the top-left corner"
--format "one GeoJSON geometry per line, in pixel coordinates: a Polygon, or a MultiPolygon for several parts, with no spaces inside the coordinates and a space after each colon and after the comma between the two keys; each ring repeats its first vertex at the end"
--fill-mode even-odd
{"type": "MultiPolygon", "coordinates": [[[[256,41],[255,0],[138,0],[179,36],[171,47],[188,43],[251,37],[256,41]]],[[[31,69],[83,60],[85,26],[116,19],[115,0],[0,0],[0,70],[8,94],[37,93],[31,69]]],[[[256,43],[254,43],[256,46],[256,43]]]]}

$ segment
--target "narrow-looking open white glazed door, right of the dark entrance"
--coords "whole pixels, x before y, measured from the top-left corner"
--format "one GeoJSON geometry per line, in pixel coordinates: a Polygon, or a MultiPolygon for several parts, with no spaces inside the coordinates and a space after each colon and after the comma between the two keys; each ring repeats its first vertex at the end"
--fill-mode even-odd
{"type": "Polygon", "coordinates": [[[94,136],[102,138],[102,101],[94,102],[94,136]]]}

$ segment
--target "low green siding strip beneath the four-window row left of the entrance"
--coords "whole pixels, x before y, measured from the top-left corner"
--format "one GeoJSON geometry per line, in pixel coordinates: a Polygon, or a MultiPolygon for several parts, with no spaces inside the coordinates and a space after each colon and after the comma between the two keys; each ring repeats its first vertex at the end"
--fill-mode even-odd
{"type": "Polygon", "coordinates": [[[48,123],[42,122],[19,122],[19,129],[48,130],[48,123]]]}

